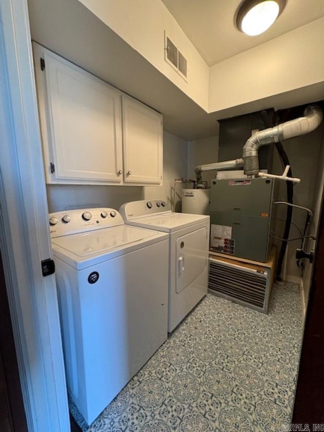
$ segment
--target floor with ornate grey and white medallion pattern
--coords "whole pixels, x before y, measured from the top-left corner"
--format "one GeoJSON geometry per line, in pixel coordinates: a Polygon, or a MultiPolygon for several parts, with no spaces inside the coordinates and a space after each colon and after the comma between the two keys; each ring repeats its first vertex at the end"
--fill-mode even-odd
{"type": "Polygon", "coordinates": [[[289,423],[299,287],[275,285],[269,315],[208,294],[83,431],[279,431],[289,423]]]}

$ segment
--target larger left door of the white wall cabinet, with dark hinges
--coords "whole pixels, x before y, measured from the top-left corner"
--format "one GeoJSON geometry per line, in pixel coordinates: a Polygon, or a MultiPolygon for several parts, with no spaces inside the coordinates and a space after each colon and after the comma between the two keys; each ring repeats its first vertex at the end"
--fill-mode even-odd
{"type": "Polygon", "coordinates": [[[50,182],[120,183],[120,92],[45,49],[44,59],[50,182]]]}

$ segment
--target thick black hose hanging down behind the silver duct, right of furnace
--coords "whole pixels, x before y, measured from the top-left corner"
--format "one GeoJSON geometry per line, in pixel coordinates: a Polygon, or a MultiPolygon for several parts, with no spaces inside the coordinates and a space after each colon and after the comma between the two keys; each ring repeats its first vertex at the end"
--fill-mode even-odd
{"type": "MultiPolygon", "coordinates": [[[[263,123],[265,124],[265,126],[267,128],[271,128],[274,126],[273,123],[269,119],[269,115],[268,115],[267,111],[262,111],[261,117],[262,117],[263,123]]],[[[279,158],[281,160],[282,165],[284,165],[285,167],[287,165],[290,165],[288,155],[287,155],[284,147],[282,147],[281,142],[276,142],[275,147],[278,151],[279,158]]],[[[288,176],[293,177],[293,173],[292,173],[291,168],[288,171],[288,176]]],[[[294,185],[290,181],[287,181],[286,184],[287,184],[287,202],[290,204],[293,204],[294,185]]],[[[281,248],[280,248],[280,252],[279,252],[279,256],[278,256],[278,263],[277,263],[277,269],[276,269],[276,280],[277,281],[281,280],[280,273],[281,273],[282,263],[284,262],[285,253],[286,253],[286,249],[287,249],[287,241],[289,238],[289,232],[290,232],[292,217],[293,217],[293,207],[287,206],[285,230],[284,230],[284,235],[282,236],[282,243],[281,243],[281,248]]]]}

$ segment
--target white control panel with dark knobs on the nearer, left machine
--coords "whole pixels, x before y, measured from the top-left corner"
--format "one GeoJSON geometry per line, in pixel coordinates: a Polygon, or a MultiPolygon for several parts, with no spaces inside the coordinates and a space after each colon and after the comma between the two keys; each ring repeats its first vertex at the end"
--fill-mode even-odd
{"type": "Polygon", "coordinates": [[[120,213],[110,208],[66,210],[49,214],[51,238],[124,225],[120,213]]]}

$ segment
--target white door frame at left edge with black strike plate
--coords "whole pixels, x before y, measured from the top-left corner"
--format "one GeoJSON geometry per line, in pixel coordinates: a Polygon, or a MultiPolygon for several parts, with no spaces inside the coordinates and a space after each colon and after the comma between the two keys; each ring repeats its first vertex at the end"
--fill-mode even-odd
{"type": "Polygon", "coordinates": [[[0,2],[0,249],[28,430],[69,430],[27,0],[0,2]]]}

